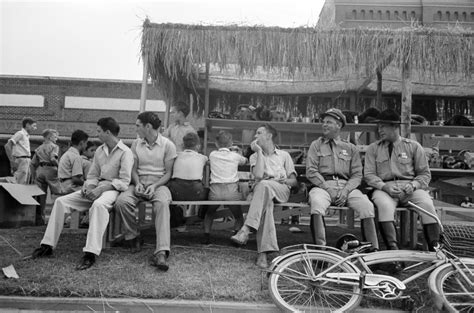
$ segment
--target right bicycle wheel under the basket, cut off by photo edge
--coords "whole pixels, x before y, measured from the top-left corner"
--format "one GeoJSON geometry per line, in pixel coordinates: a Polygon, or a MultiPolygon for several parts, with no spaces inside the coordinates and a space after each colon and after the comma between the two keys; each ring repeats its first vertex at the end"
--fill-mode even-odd
{"type": "MultiPolygon", "coordinates": [[[[463,259],[463,263],[474,272],[474,259],[463,259]]],[[[430,289],[439,296],[448,312],[474,313],[474,277],[467,268],[463,268],[461,264],[460,267],[467,280],[453,266],[445,266],[436,272],[433,280],[429,280],[430,289]]]]}

